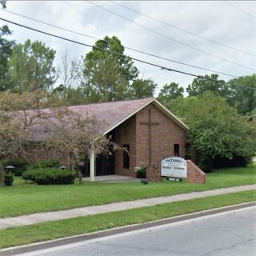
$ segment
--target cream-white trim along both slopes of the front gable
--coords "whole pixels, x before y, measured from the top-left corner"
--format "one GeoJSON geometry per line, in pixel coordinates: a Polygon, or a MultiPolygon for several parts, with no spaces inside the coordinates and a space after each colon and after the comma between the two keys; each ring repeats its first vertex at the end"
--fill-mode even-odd
{"type": "MultiPolygon", "coordinates": [[[[166,114],[171,120],[173,120],[178,126],[181,126],[185,130],[189,130],[189,127],[186,126],[184,122],[182,122],[178,117],[176,117],[174,114],[172,114],[169,110],[166,109],[165,106],[162,106],[160,102],[158,102],[155,98],[152,98],[149,102],[146,102],[143,106],[138,108],[138,110],[135,110],[133,113],[126,116],[126,118],[123,118],[120,122],[116,123],[114,126],[111,126],[109,130],[106,130],[102,135],[100,135],[98,138],[102,137],[103,135],[108,134],[111,130],[114,130],[117,126],[120,126],[122,122],[125,122],[127,119],[131,118],[134,114],[137,114],[138,111],[142,110],[146,106],[150,105],[150,103],[153,103],[154,106],[158,108],[158,110],[162,111],[164,114],[166,114]]],[[[98,138],[95,139],[95,141],[98,140],[98,138]]]]}

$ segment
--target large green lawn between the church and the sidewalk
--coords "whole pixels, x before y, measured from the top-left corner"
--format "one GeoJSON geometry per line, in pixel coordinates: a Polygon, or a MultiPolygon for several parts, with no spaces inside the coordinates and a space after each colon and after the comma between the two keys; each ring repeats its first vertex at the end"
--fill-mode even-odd
{"type": "Polygon", "coordinates": [[[14,186],[0,188],[0,218],[254,183],[255,165],[207,174],[206,184],[151,182],[149,185],[142,185],[138,182],[86,182],[82,185],[37,186],[25,184],[19,178],[14,182],[14,186]]]}

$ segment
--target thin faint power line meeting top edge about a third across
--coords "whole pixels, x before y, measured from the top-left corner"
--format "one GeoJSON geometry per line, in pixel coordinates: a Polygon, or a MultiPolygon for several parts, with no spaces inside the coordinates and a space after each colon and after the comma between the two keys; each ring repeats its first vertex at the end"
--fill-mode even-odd
{"type": "MultiPolygon", "coordinates": [[[[87,2],[90,2],[90,1],[87,1],[87,2]]],[[[190,46],[190,45],[186,44],[185,42],[181,42],[181,41],[178,41],[178,40],[176,40],[176,39],[174,39],[174,38],[170,38],[170,37],[168,37],[168,36],[166,36],[166,35],[164,35],[164,34],[159,33],[158,31],[151,30],[150,28],[148,28],[148,27],[146,27],[146,26],[143,26],[143,25],[139,24],[138,22],[134,22],[134,21],[131,20],[130,18],[126,18],[126,17],[124,17],[124,16],[122,16],[122,15],[120,15],[120,14],[115,13],[115,12],[112,11],[112,10],[106,9],[105,7],[98,6],[98,5],[95,4],[94,2],[90,2],[90,4],[93,5],[93,6],[97,6],[98,8],[100,8],[100,9],[102,9],[102,10],[106,10],[107,12],[109,12],[109,13],[111,13],[111,14],[114,14],[114,15],[116,15],[116,16],[122,18],[122,19],[125,19],[126,21],[132,22],[132,23],[134,23],[135,25],[142,27],[144,30],[148,30],[148,31],[150,31],[150,32],[152,32],[152,33],[154,33],[154,34],[158,34],[158,36],[161,36],[162,38],[166,38],[166,39],[168,39],[168,40],[170,40],[170,41],[177,42],[178,44],[181,44],[182,46],[187,46],[187,47],[189,47],[189,48],[191,48],[191,49],[193,49],[193,50],[197,50],[198,52],[200,52],[200,53],[202,53],[202,54],[206,54],[206,55],[209,55],[209,56],[211,56],[211,57],[218,58],[218,59],[220,59],[220,60],[222,60],[222,61],[224,61],[224,62],[230,62],[231,64],[234,64],[234,65],[237,65],[237,66],[242,66],[242,67],[244,67],[244,68],[246,68],[246,69],[249,69],[249,70],[255,70],[254,68],[252,68],[252,67],[250,67],[250,66],[245,66],[245,65],[242,65],[242,64],[240,64],[240,63],[238,63],[238,62],[232,62],[232,61],[230,61],[230,60],[228,60],[228,59],[226,59],[226,58],[218,57],[217,55],[210,54],[210,53],[208,53],[208,52],[206,52],[206,51],[204,51],[204,50],[200,50],[200,49],[198,49],[197,47],[190,46]]]]}

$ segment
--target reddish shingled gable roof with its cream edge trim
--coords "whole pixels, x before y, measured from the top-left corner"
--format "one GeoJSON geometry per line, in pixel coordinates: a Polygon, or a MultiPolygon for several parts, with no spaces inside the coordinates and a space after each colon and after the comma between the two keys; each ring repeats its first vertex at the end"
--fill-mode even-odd
{"type": "Polygon", "coordinates": [[[99,134],[107,134],[110,130],[125,122],[128,118],[132,117],[134,114],[138,113],[144,107],[153,103],[158,110],[166,114],[170,119],[172,119],[178,126],[181,126],[184,130],[189,128],[180,119],[178,119],[174,114],[162,106],[154,98],[142,98],[136,100],[127,100],[120,102],[100,102],[92,103],[79,106],[69,106],[70,110],[81,114],[83,117],[94,116],[101,123],[99,134]]]}

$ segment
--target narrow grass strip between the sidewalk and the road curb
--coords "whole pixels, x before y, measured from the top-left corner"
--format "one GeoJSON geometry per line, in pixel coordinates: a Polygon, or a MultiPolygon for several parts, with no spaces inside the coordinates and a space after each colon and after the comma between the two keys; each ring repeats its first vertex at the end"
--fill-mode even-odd
{"type": "Polygon", "coordinates": [[[256,199],[255,192],[256,190],[250,190],[118,211],[109,214],[97,214],[86,217],[69,218],[61,221],[44,222],[30,226],[8,228],[6,230],[0,230],[0,248],[64,238],[75,234],[86,234],[97,230],[150,222],[180,214],[230,206],[242,202],[251,202],[256,199]]]}

